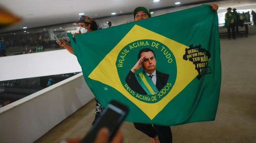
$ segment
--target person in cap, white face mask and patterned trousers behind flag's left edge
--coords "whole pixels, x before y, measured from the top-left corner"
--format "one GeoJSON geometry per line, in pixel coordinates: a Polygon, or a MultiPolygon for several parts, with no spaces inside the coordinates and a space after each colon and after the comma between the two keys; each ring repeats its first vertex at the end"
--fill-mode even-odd
{"type": "MultiPolygon", "coordinates": [[[[74,23],[78,23],[79,30],[77,30],[76,33],[73,34],[73,37],[77,34],[83,34],[83,33],[88,33],[91,31],[98,30],[98,25],[96,21],[91,20],[89,16],[81,15],[78,21],[74,21],[74,23]]],[[[60,40],[61,43],[58,40],[56,42],[60,46],[67,49],[71,54],[74,54],[73,48],[67,45],[64,40],[60,40]]],[[[92,124],[95,123],[95,121],[99,118],[99,116],[104,110],[104,107],[99,103],[97,98],[95,98],[95,101],[96,101],[95,119],[92,124]]]]}

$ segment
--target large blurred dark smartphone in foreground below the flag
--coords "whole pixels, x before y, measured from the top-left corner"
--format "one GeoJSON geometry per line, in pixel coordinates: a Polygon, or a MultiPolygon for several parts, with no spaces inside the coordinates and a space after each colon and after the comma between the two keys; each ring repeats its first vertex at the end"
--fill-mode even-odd
{"type": "Polygon", "coordinates": [[[114,100],[110,101],[101,116],[95,121],[95,124],[85,135],[81,143],[93,143],[99,130],[103,127],[108,128],[109,141],[111,141],[116,131],[126,118],[128,112],[129,109],[127,106],[114,100]]]}

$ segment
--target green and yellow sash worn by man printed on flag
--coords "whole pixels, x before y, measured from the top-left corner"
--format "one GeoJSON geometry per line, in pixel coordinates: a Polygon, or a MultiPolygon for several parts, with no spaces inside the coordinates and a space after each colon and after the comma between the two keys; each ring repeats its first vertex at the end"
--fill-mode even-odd
{"type": "Polygon", "coordinates": [[[146,74],[146,72],[140,72],[135,77],[148,95],[155,95],[159,92],[156,86],[154,85],[153,81],[146,74]]]}

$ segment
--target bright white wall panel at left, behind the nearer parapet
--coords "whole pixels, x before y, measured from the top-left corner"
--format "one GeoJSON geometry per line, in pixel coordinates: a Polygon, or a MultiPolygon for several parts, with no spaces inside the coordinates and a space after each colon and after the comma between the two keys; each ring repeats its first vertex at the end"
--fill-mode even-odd
{"type": "Polygon", "coordinates": [[[0,81],[81,72],[66,49],[0,57],[0,81]]]}

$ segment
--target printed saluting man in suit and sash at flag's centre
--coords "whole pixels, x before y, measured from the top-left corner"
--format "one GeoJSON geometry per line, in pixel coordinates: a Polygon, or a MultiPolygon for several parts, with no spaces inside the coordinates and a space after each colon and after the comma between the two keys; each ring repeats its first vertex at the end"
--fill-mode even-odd
{"type": "Polygon", "coordinates": [[[126,76],[126,83],[135,92],[142,95],[154,95],[159,93],[169,78],[165,74],[156,70],[155,53],[149,48],[141,49],[138,54],[138,62],[133,66],[126,76]],[[136,74],[140,68],[143,71],[136,74]]]}

